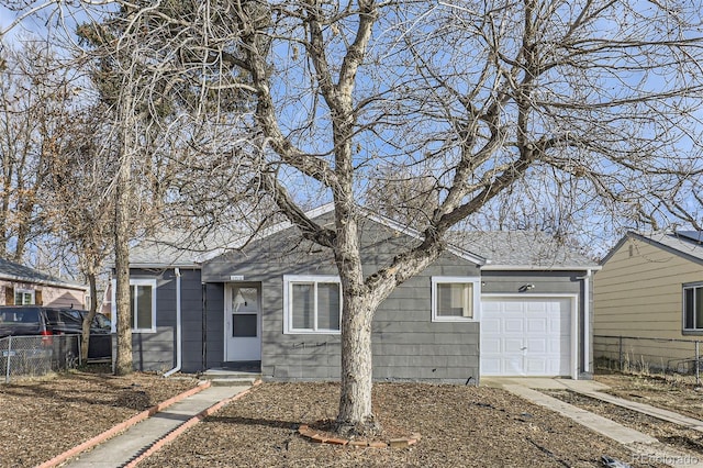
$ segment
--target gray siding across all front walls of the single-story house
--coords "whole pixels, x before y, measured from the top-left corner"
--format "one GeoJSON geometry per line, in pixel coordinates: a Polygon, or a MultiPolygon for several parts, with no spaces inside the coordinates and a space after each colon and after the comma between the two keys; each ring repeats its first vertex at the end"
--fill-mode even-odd
{"type": "MultiPolygon", "coordinates": [[[[416,241],[371,221],[361,224],[365,274],[388,265],[394,255],[416,241]]],[[[483,293],[525,296],[578,293],[579,370],[584,355],[584,271],[480,271],[477,265],[445,253],[425,271],[399,286],[381,304],[372,324],[373,378],[476,382],[480,374],[480,324],[432,322],[432,277],[466,276],[482,279],[483,293]]],[[[337,380],[341,336],[283,334],[283,275],[338,275],[328,249],[290,229],[214,258],[199,269],[180,269],[182,312],[182,367],[186,372],[220,367],[224,360],[224,288],[232,276],[261,286],[261,372],[268,380],[337,380]],[[204,297],[203,297],[204,293],[204,297]]],[[[135,334],[135,367],[165,371],[176,366],[175,270],[132,270],[133,278],[157,279],[157,332],[135,334]]],[[[591,288],[592,291],[592,288],[591,288]]],[[[588,337],[590,341],[590,336],[588,337]]],[[[591,348],[591,347],[589,347],[591,348]]]]}

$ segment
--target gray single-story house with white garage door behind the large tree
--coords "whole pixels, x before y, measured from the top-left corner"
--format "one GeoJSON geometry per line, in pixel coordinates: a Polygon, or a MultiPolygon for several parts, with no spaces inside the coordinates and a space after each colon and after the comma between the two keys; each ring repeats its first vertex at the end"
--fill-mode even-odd
{"type": "MultiPolygon", "coordinates": [[[[331,205],[309,215],[333,224],[331,205]]],[[[419,238],[371,213],[360,227],[368,272],[419,238]]],[[[289,223],[242,248],[208,253],[189,254],[165,238],[131,252],[135,368],[196,372],[250,364],[267,380],[338,379],[341,286],[328,249],[289,223]]],[[[588,378],[598,268],[542,233],[456,235],[376,312],[373,378],[588,378]]]]}

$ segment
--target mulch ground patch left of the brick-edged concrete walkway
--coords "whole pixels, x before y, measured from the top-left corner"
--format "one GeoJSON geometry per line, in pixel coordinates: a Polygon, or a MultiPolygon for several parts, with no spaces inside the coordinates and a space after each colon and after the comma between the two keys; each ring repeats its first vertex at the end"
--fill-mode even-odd
{"type": "Polygon", "coordinates": [[[197,383],[74,371],[0,385],[0,467],[52,459],[197,383]]]}

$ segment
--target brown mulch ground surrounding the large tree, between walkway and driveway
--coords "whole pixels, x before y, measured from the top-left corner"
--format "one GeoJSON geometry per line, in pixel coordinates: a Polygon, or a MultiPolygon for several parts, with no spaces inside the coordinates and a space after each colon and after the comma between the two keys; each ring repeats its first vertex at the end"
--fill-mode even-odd
{"type": "Polygon", "coordinates": [[[300,423],[332,419],[334,383],[264,383],[146,459],[145,467],[595,467],[602,455],[633,463],[611,439],[503,390],[379,383],[387,435],[420,432],[406,448],[314,444],[300,423]]]}

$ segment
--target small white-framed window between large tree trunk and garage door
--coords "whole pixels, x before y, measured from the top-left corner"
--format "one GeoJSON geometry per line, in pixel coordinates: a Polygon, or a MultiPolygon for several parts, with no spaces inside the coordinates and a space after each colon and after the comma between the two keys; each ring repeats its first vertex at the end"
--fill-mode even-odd
{"type": "Polygon", "coordinates": [[[481,281],[473,277],[432,278],[432,321],[477,321],[481,281]]]}

